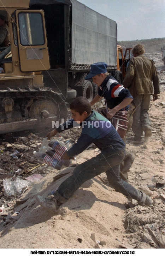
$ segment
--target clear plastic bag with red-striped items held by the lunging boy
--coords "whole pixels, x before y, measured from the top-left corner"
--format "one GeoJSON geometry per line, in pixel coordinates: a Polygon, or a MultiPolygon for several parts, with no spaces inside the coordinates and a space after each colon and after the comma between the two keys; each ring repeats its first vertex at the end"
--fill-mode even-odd
{"type": "Polygon", "coordinates": [[[34,151],[33,153],[41,162],[57,170],[61,170],[64,166],[69,167],[71,164],[71,160],[61,159],[65,151],[67,151],[67,148],[63,142],[53,139],[48,141],[47,138],[45,138],[42,141],[39,152],[34,151]]]}

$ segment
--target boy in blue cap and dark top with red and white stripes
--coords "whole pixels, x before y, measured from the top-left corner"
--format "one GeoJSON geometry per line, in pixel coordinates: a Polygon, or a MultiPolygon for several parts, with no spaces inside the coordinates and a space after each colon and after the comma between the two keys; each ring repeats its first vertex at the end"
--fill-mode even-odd
{"type": "MultiPolygon", "coordinates": [[[[86,76],[86,79],[92,78],[93,82],[99,87],[98,94],[90,102],[91,106],[98,102],[102,97],[105,98],[106,105],[108,108],[107,118],[111,119],[117,111],[125,110],[129,108],[129,104],[133,100],[128,89],[125,89],[118,81],[110,76],[107,72],[107,64],[105,62],[96,62],[90,65],[90,72],[86,76]]],[[[132,117],[128,122],[128,130],[132,125],[132,117]]],[[[124,137],[124,142],[126,141],[124,137]]],[[[125,159],[123,161],[124,167],[120,170],[120,177],[128,182],[127,171],[134,162],[134,157],[128,151],[125,151],[125,159]]]]}

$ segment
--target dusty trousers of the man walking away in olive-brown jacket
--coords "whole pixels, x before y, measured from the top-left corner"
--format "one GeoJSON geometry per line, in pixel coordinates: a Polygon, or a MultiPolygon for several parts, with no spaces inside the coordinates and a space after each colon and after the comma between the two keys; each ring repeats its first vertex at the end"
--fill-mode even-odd
{"type": "Polygon", "coordinates": [[[151,94],[139,94],[134,97],[132,102],[134,103],[135,107],[140,104],[133,114],[132,122],[132,131],[134,132],[136,138],[141,138],[143,131],[145,131],[146,128],[152,127],[148,115],[150,98],[151,94]]]}

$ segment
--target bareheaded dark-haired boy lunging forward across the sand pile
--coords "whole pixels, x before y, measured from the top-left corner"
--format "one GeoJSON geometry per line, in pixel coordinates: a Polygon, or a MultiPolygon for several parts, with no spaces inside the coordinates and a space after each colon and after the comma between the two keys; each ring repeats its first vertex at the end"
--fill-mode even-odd
{"type": "Polygon", "coordinates": [[[96,157],[79,164],[72,175],[67,178],[52,196],[43,197],[38,195],[39,204],[55,211],[65,203],[74,192],[87,180],[106,172],[109,184],[116,191],[137,200],[145,205],[151,205],[152,199],[144,192],[135,189],[132,185],[120,179],[120,163],[125,156],[125,143],[119,134],[104,116],[97,111],[91,111],[90,102],[85,97],[77,97],[70,104],[72,119],[60,125],[46,136],[48,140],[58,132],[75,127],[75,123],[82,126],[82,133],[73,145],[62,156],[63,159],[71,159],[83,152],[91,143],[94,143],[101,151],[96,157]]]}

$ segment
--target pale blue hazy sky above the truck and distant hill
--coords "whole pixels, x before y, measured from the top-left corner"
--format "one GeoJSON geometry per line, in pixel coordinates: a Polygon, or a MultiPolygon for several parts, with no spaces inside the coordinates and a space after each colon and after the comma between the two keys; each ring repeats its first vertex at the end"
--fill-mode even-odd
{"type": "Polygon", "coordinates": [[[165,37],[165,0],[78,0],[114,20],[118,41],[165,37]]]}

